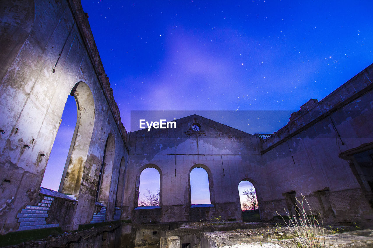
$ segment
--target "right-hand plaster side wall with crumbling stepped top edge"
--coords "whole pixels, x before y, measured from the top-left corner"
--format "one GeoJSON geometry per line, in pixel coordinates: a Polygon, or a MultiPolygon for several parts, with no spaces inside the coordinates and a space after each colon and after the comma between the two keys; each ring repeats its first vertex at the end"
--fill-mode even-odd
{"type": "Polygon", "coordinates": [[[273,178],[262,202],[266,218],[275,211],[284,214],[282,194],[295,191],[297,197],[306,196],[314,213],[340,222],[372,219],[372,193],[364,192],[350,163],[339,158],[347,150],[373,142],[372,79],[371,65],[322,101],[308,101],[263,142],[263,163],[273,178]],[[326,201],[320,197],[323,190],[326,201]]]}

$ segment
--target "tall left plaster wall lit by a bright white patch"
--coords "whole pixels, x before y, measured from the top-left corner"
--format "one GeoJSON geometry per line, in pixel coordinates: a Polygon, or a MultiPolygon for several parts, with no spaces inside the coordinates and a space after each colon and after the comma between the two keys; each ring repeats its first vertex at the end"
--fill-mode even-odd
{"type": "MultiPolygon", "coordinates": [[[[127,158],[126,131],[80,1],[1,4],[4,11],[0,44],[6,47],[1,54],[6,59],[1,62],[0,71],[0,128],[4,130],[0,134],[0,198],[5,206],[0,210],[1,233],[17,230],[16,215],[26,205],[38,202],[66,99],[79,82],[87,84],[93,96],[94,127],[87,159],[80,161],[82,179],[78,185],[79,201],[70,213],[74,216],[71,229],[92,218],[109,133],[115,136],[116,148],[110,178],[112,204],[107,210],[110,220],[120,162],[127,158]]],[[[79,109],[81,113],[86,110],[84,106],[79,109]]]]}

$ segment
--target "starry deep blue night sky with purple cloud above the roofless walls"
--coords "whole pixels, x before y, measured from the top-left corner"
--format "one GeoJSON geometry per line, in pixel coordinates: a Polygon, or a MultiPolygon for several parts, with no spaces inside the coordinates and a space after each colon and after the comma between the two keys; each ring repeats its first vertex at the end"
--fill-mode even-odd
{"type": "MultiPolygon", "coordinates": [[[[292,111],[373,62],[373,1],[81,3],[128,131],[133,110],[193,110],[248,133],[273,133],[292,111]],[[228,110],[286,113],[265,127],[213,116],[228,110]]],[[[61,126],[73,131],[68,122],[61,126]]],[[[65,137],[53,150],[69,147],[65,137]]]]}

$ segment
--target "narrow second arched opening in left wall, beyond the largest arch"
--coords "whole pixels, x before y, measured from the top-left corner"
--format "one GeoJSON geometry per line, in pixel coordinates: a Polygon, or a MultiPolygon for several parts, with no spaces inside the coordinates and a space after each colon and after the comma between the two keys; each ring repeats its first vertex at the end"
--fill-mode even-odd
{"type": "Polygon", "coordinates": [[[101,203],[109,202],[110,184],[112,181],[113,166],[115,158],[115,140],[112,134],[109,134],[105,144],[103,161],[98,174],[98,184],[96,201],[101,203]]]}

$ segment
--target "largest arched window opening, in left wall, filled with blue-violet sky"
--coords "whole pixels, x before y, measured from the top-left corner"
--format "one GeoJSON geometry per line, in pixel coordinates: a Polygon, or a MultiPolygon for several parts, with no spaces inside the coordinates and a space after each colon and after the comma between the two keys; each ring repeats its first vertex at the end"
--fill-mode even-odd
{"type": "Polygon", "coordinates": [[[76,126],[76,119],[77,107],[75,98],[73,96],[68,96],[65,108],[63,109],[60,126],[48,158],[41,187],[54,191],[59,190],[66,158],[70,159],[68,155],[76,126]]]}

